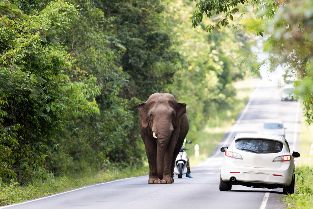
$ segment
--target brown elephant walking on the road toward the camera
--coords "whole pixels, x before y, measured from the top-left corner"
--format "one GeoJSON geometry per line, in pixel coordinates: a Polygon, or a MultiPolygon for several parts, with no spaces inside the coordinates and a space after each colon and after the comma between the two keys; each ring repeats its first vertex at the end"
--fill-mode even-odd
{"type": "Polygon", "coordinates": [[[137,107],[149,163],[148,183],[173,183],[175,159],[189,130],[186,104],[172,94],[155,93],[137,107]]]}

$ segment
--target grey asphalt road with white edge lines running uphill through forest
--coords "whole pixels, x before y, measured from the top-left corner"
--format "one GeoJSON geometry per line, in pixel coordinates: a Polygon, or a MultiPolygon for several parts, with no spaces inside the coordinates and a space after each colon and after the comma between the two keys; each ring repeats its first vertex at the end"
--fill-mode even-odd
{"type": "MultiPolygon", "coordinates": [[[[211,158],[191,168],[192,179],[175,176],[173,184],[148,184],[140,176],[83,187],[36,200],[18,203],[12,209],[49,208],[285,208],[282,189],[255,189],[233,185],[231,191],[219,191],[222,146],[228,146],[237,133],[257,133],[266,119],[284,122],[291,151],[299,151],[299,102],[280,100],[277,82],[260,81],[236,122],[225,133],[211,158]]],[[[201,148],[200,148],[201,149],[201,148]]]]}

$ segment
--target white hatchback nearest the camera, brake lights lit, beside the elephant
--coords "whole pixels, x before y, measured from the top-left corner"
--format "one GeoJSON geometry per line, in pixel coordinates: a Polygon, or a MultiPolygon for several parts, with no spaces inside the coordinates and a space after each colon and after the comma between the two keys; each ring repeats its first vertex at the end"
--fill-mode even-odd
{"type": "Polygon", "coordinates": [[[295,191],[294,158],[300,154],[290,149],[283,136],[257,133],[238,133],[225,152],[222,161],[220,191],[231,190],[232,185],[255,188],[283,188],[295,191]]]}

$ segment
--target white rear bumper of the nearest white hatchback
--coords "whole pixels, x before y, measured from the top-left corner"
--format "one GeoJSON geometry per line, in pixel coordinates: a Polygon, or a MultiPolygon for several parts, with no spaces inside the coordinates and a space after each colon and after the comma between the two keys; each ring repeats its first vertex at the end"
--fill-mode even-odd
{"type": "Polygon", "coordinates": [[[294,163],[291,161],[283,162],[280,168],[254,168],[234,165],[232,158],[224,157],[221,168],[221,178],[223,181],[230,181],[232,177],[235,177],[237,183],[233,182],[233,184],[239,185],[255,183],[289,186],[292,180],[293,171],[294,163]],[[241,184],[240,182],[245,183],[241,184]]]}

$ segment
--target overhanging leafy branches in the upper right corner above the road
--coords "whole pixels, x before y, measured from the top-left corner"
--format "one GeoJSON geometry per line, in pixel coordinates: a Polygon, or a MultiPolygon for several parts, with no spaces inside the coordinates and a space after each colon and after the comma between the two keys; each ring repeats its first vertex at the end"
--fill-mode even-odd
{"type": "Polygon", "coordinates": [[[286,75],[297,78],[295,93],[304,103],[310,125],[313,122],[312,9],[313,3],[309,0],[200,0],[190,20],[196,27],[202,22],[203,14],[210,18],[212,13],[222,13],[218,22],[207,25],[208,32],[228,25],[230,20],[235,29],[243,26],[257,35],[266,34],[264,51],[270,55],[271,71],[284,65],[286,75]]]}

